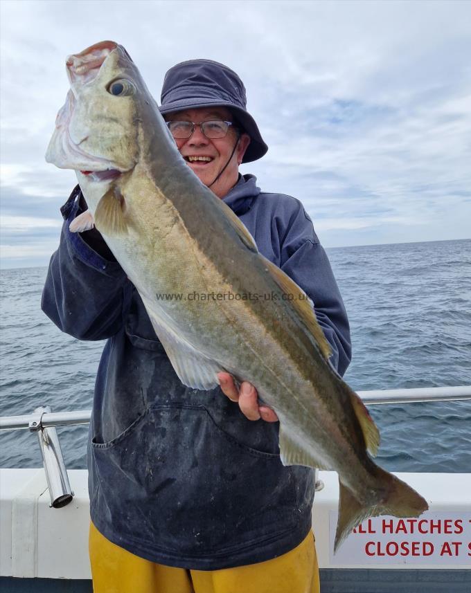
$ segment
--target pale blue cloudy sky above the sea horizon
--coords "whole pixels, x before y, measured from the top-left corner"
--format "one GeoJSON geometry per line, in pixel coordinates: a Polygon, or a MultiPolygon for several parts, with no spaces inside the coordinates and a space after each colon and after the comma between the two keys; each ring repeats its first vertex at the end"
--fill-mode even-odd
{"type": "Polygon", "coordinates": [[[45,266],[75,174],[44,161],[65,59],[125,46],[235,70],[269,152],[242,173],[301,200],[326,247],[471,237],[471,1],[0,0],[0,267],[45,266]]]}

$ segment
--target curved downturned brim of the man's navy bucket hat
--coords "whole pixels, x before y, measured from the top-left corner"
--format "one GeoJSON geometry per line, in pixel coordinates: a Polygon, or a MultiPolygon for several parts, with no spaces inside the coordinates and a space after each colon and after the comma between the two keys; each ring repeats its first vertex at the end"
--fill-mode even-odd
{"type": "Polygon", "coordinates": [[[211,101],[208,100],[207,97],[200,100],[197,98],[181,99],[161,105],[159,111],[162,115],[165,115],[166,113],[175,113],[175,111],[183,111],[184,109],[200,109],[202,107],[226,107],[226,109],[229,109],[234,114],[244,131],[249,134],[250,144],[242,158],[242,163],[257,161],[258,158],[262,158],[262,156],[266,154],[268,147],[263,141],[254,118],[248,111],[245,111],[245,109],[242,109],[241,107],[237,107],[229,101],[211,101]]]}

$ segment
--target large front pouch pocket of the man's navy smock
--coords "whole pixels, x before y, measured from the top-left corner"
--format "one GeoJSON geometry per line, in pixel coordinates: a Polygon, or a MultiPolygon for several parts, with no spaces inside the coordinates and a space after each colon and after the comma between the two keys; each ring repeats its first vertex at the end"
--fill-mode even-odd
{"type": "Polygon", "coordinates": [[[92,441],[91,455],[93,513],[131,543],[224,555],[299,520],[296,468],[240,444],[202,405],[154,404],[112,441],[92,441]]]}

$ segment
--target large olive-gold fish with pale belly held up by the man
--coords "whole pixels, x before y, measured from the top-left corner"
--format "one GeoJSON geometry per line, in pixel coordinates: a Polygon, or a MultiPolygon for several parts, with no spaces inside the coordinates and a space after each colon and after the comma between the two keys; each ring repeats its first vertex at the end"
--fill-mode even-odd
{"type": "Polygon", "coordinates": [[[250,381],[278,414],[283,464],[338,472],[335,549],[368,517],[419,516],[427,502],[368,455],[379,433],[330,367],[312,302],[186,165],[125,49],[101,42],[66,70],[46,160],[77,172],[89,210],[71,230],[96,224],[182,383],[211,389],[220,371],[250,381]],[[165,296],[188,293],[223,296],[165,296]]]}

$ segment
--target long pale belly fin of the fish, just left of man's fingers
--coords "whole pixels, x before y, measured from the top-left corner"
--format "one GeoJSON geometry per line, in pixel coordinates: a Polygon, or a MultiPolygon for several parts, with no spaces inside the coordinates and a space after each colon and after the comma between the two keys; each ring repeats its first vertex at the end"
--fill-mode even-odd
{"type": "MultiPolygon", "coordinates": [[[[150,309],[148,309],[148,312],[150,309]]],[[[155,333],[161,341],[181,383],[193,389],[209,390],[219,385],[217,373],[224,367],[212,361],[186,342],[154,311],[149,314],[155,333]]]]}

